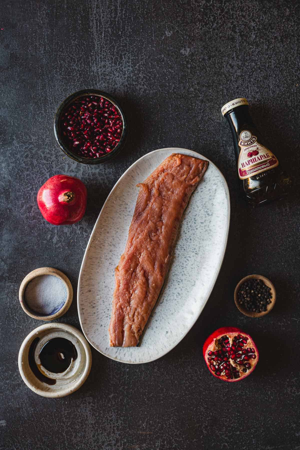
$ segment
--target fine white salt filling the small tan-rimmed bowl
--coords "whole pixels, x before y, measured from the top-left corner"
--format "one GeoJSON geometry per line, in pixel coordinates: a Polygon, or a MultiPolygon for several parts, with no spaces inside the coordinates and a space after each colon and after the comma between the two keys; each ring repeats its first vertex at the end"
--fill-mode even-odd
{"type": "Polygon", "coordinates": [[[67,288],[63,280],[54,275],[40,275],[27,284],[24,297],[31,311],[52,315],[66,302],[67,288]]]}

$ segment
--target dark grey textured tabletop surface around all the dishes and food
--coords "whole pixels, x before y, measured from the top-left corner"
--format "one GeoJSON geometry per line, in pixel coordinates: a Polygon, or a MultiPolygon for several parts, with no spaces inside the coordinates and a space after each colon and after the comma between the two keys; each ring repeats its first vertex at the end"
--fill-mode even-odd
{"type": "MultiPolygon", "coordinates": [[[[1,413],[3,449],[300,449],[299,26],[294,1],[7,1],[0,15],[1,413]],[[3,29],[2,29],[3,28],[3,29]],[[130,135],[98,167],[67,158],[53,118],[73,91],[118,98],[130,135]],[[269,145],[295,180],[285,203],[251,210],[238,196],[233,146],[220,108],[246,96],[269,145]],[[18,372],[23,339],[40,321],[18,302],[23,277],[63,270],[76,289],[100,208],[138,157],[161,147],[203,153],[224,173],[232,202],[224,264],[199,320],[168,355],[123,365],[93,350],[83,387],[49,400],[18,372]],[[50,176],[76,175],[89,193],[78,225],[45,222],[36,193],[50,176]],[[239,279],[269,277],[273,311],[260,320],[233,303],[239,279]],[[260,362],[241,383],[213,378],[201,347],[224,325],[252,334],[260,362]]],[[[79,327],[76,298],[62,322],[79,327]]]]}

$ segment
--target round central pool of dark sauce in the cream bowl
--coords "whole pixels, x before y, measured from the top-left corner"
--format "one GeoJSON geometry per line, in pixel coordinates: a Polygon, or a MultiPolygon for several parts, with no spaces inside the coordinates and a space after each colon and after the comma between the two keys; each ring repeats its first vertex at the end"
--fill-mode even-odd
{"type": "Polygon", "coordinates": [[[76,360],[77,351],[74,344],[65,338],[53,338],[46,342],[40,351],[40,362],[45,369],[54,374],[61,374],[76,360]]]}

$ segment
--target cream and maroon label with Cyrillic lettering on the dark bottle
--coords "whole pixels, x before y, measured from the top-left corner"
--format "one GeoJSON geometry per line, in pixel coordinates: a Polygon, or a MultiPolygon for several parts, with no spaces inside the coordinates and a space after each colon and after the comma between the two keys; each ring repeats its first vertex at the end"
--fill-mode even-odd
{"type": "Polygon", "coordinates": [[[241,180],[277,167],[278,159],[269,148],[257,142],[251,131],[243,130],[238,143],[241,148],[237,169],[241,180]]]}

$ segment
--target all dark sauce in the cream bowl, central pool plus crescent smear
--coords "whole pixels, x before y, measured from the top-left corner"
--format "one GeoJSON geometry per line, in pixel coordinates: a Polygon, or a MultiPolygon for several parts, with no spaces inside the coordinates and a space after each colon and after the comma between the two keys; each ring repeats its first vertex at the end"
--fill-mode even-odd
{"type": "Polygon", "coordinates": [[[37,365],[34,354],[39,340],[40,338],[35,338],[29,347],[29,367],[38,380],[42,383],[53,385],[56,383],[56,380],[43,374],[39,366],[41,365],[45,369],[49,370],[49,372],[53,372],[55,374],[64,372],[70,366],[72,360],[74,361],[77,358],[76,347],[71,341],[65,338],[50,339],[41,348],[39,353],[41,364],[37,365]]]}

